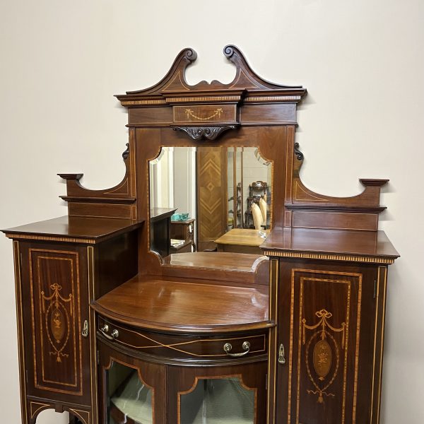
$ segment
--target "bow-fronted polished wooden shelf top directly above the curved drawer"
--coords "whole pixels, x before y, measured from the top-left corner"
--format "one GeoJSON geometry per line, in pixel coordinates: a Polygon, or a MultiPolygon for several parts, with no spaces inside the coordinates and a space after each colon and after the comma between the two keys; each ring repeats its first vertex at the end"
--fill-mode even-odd
{"type": "Polygon", "coordinates": [[[93,302],[105,317],[143,329],[179,333],[224,333],[264,329],[267,288],[240,288],[136,276],[93,302]]]}

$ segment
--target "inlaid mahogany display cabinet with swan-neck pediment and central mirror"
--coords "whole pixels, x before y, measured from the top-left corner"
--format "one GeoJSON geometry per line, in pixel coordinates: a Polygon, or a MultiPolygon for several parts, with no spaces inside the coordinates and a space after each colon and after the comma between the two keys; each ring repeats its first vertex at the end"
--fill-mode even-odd
{"type": "Polygon", "coordinates": [[[122,182],[90,190],[61,174],[67,216],[4,230],[23,424],[48,408],[83,424],[379,423],[399,257],[378,230],[388,180],[360,179],[348,198],[307,189],[305,88],[264,81],[234,46],[224,54],[229,84],[190,86],[196,52],[184,49],[158,84],[117,95],[122,182]],[[231,194],[257,181],[270,231],[245,231],[263,237],[261,254],[214,252],[234,226],[231,194]],[[175,211],[189,211],[179,237],[197,252],[172,249],[175,211]]]}

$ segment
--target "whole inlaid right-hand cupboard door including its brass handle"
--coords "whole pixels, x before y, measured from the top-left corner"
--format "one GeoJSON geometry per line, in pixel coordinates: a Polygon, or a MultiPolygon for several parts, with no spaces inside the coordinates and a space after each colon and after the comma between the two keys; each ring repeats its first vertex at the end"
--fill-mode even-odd
{"type": "Polygon", "coordinates": [[[276,423],[370,422],[372,266],[281,263],[276,423]]]}

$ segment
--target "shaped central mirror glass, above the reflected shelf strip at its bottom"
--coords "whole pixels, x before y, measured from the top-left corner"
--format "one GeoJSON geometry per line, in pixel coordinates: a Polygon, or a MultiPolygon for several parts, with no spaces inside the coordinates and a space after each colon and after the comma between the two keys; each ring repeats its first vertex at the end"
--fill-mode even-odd
{"type": "Polygon", "coordinates": [[[261,254],[271,181],[255,147],[163,147],[149,163],[151,250],[261,254]]]}

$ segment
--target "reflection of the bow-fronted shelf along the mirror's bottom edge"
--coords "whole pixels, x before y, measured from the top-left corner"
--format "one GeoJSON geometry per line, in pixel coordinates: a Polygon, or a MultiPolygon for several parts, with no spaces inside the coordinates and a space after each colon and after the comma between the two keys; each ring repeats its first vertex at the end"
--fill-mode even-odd
{"type": "Polygon", "coordinates": [[[268,260],[267,257],[259,254],[186,252],[170,254],[163,259],[163,263],[173,266],[195,266],[200,269],[224,269],[225,271],[253,273],[259,263],[266,260],[268,260]]]}

